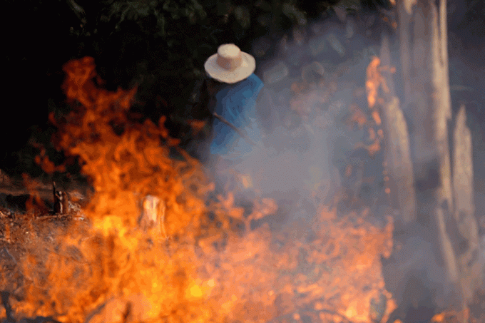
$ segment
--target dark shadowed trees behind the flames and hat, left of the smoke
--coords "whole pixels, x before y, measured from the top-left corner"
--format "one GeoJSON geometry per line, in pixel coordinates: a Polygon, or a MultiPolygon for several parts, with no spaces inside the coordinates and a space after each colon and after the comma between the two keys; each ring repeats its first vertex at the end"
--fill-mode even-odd
{"type": "Polygon", "coordinates": [[[275,51],[273,40],[329,9],[388,5],[388,0],[7,1],[4,10],[13,17],[8,26],[15,31],[5,36],[7,106],[21,108],[10,109],[12,116],[0,127],[2,136],[18,138],[4,151],[23,147],[31,125],[45,128],[47,111],[68,111],[59,85],[61,66],[71,58],[93,56],[108,89],[138,86],[133,111],[153,119],[168,115],[172,135],[190,138],[184,123],[203,118],[203,111],[195,116],[188,103],[204,76],[205,59],[218,45],[234,42],[250,52],[252,41],[267,36],[267,57],[275,51]]]}

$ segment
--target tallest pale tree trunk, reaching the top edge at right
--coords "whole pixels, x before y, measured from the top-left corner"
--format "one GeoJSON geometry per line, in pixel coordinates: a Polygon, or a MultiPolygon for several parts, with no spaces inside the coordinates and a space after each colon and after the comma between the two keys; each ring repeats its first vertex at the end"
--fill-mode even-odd
{"type": "Polygon", "coordinates": [[[404,1],[399,8],[399,19],[404,21],[400,32],[402,64],[406,69],[404,102],[407,106],[404,109],[412,121],[417,220],[436,233],[436,251],[446,268],[447,281],[454,285],[458,282],[459,270],[446,233],[446,222],[453,210],[447,128],[451,105],[445,56],[446,2],[404,1]]]}

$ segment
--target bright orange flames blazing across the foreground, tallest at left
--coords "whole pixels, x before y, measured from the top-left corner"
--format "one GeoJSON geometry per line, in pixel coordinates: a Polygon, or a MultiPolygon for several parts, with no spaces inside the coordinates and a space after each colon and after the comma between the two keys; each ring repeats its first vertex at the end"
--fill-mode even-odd
{"type": "Polygon", "coordinates": [[[337,217],[322,206],[281,232],[252,228],[277,212],[273,200],[255,200],[249,214],[230,193],[208,202],[213,183],[170,139],[165,118],[129,120],[135,89],[95,86],[92,58],[64,71],[66,96],[80,105],[65,121],[51,116],[56,144],[79,156],[95,194],[88,222],[58,232],[44,259],[24,264],[17,313],[90,323],[370,323],[392,312],[379,261],[392,250],[390,217],[377,227],[365,220],[369,210],[337,217]],[[170,145],[184,160],[170,157],[170,145]],[[148,195],[164,207],[163,235],[138,224],[148,195]]]}

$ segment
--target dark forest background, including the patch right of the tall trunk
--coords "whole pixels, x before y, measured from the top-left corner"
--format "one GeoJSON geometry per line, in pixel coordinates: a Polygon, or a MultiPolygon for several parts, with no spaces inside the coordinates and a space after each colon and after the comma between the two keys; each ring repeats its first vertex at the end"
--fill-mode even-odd
{"type": "MultiPolygon", "coordinates": [[[[153,120],[168,116],[170,135],[186,145],[185,121],[207,116],[191,108],[191,94],[203,78],[205,59],[221,43],[237,43],[252,53],[252,42],[266,36],[270,46],[257,56],[262,62],[272,58],[278,39],[292,37],[292,26],[337,20],[338,10],[375,15],[379,24],[372,28],[392,32],[383,21],[393,16],[386,0],[4,1],[0,168],[39,172],[32,162],[38,150],[28,140],[48,146],[55,131],[47,123],[48,113],[68,113],[62,66],[73,58],[92,56],[109,90],[138,86],[132,110],[153,120]]],[[[452,87],[451,94],[454,106],[467,103],[479,121],[475,128],[484,118],[483,74],[476,68],[484,66],[484,18],[484,1],[449,1],[450,78],[461,86],[452,87]]],[[[475,139],[485,141],[485,136],[475,139]]],[[[48,153],[62,160],[53,147],[48,153]]]]}

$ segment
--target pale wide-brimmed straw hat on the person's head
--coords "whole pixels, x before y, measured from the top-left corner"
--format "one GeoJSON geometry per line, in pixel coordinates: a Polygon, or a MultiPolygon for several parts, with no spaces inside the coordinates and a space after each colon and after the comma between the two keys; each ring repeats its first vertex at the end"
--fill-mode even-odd
{"type": "Polygon", "coordinates": [[[218,53],[210,56],[204,64],[210,77],[224,83],[244,80],[255,71],[256,61],[233,43],[219,46],[218,53]]]}

